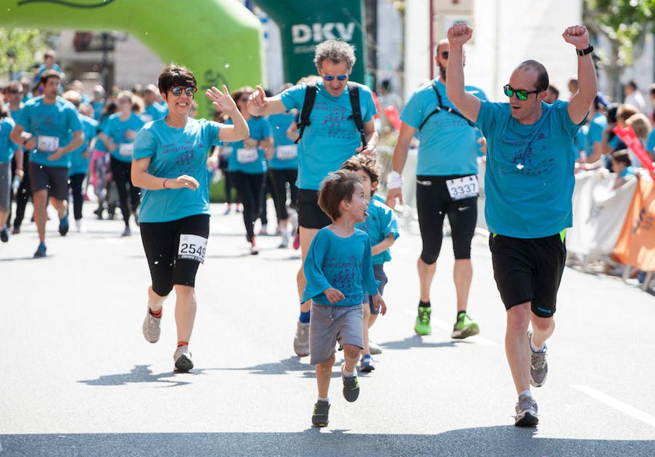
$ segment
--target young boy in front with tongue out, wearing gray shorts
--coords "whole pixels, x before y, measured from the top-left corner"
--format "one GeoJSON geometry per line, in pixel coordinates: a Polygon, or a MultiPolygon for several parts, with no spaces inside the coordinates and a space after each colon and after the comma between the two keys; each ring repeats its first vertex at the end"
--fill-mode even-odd
{"type": "Polygon", "coordinates": [[[343,346],[341,365],[343,396],[355,401],[360,386],[355,372],[364,349],[362,314],[364,295],[373,295],[375,308],[386,305],[378,292],[373,273],[371,240],[355,228],[367,217],[369,205],[360,177],[349,170],[338,170],[321,183],[318,205],[332,223],[320,229],[307,253],[304,272],[307,286],[302,301],[312,300],[309,321],[310,363],[316,365],[318,401],[312,424],[327,426],[329,381],[335,362],[335,344],[343,346]]]}

